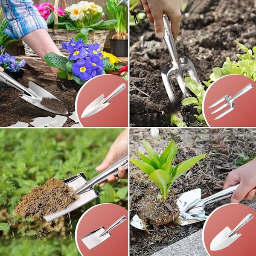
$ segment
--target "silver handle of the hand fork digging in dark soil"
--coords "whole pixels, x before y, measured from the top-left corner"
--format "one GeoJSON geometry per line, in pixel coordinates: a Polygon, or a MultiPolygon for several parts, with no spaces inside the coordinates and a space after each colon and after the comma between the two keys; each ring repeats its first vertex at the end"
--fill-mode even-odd
{"type": "Polygon", "coordinates": [[[171,55],[172,62],[174,66],[178,67],[179,66],[179,61],[178,61],[178,55],[177,55],[177,50],[175,47],[175,42],[174,38],[172,35],[172,29],[169,23],[169,19],[166,14],[163,15],[163,25],[165,29],[165,34],[164,34],[164,42],[166,43],[166,47],[171,55]]]}

